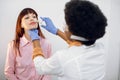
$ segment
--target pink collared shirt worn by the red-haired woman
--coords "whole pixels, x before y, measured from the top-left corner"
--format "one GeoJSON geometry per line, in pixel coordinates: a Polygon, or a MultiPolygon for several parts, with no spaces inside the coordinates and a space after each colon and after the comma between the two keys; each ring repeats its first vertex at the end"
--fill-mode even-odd
{"type": "MultiPolygon", "coordinates": [[[[46,39],[40,38],[40,45],[46,58],[51,55],[51,45],[46,39]]],[[[22,57],[16,56],[13,48],[13,41],[8,44],[5,63],[5,76],[8,80],[50,80],[50,76],[40,76],[36,72],[32,61],[32,42],[24,36],[20,39],[20,53],[22,57]],[[41,79],[43,78],[43,79],[41,79]]]]}

